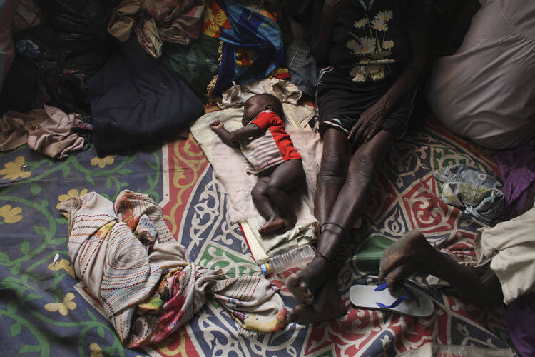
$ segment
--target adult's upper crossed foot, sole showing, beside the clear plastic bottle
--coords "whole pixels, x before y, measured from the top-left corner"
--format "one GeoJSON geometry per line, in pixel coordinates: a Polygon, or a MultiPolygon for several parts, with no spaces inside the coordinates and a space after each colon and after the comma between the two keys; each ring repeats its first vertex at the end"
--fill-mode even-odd
{"type": "Polygon", "coordinates": [[[329,263],[325,258],[315,256],[305,269],[286,278],[286,287],[297,298],[297,301],[305,305],[312,305],[314,293],[325,283],[328,271],[329,263]]]}

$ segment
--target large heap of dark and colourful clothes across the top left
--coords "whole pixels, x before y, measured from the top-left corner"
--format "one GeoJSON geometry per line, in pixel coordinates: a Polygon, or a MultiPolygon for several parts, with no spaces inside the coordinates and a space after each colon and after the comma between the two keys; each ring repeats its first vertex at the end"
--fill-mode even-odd
{"type": "MultiPolygon", "coordinates": [[[[104,156],[183,137],[204,114],[203,102],[217,100],[233,84],[290,79],[290,73],[302,81],[298,72],[313,60],[309,51],[304,61],[295,44],[285,58],[280,3],[6,1],[0,31],[11,56],[0,56],[6,69],[0,130],[18,139],[2,150],[39,133],[42,124],[25,118],[34,110],[46,115],[45,106],[76,118],[65,134],[83,141],[54,157],[91,144],[104,156]]],[[[311,68],[315,78],[315,64],[311,68]]],[[[304,93],[313,94],[313,84],[306,85],[304,93]]]]}

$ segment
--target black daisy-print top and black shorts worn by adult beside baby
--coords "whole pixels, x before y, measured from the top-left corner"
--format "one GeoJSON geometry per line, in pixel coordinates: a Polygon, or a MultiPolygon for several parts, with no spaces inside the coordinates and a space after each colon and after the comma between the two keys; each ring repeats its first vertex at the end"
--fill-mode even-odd
{"type": "MultiPolygon", "coordinates": [[[[347,134],[360,115],[392,87],[412,59],[409,29],[423,29],[423,0],[352,1],[337,14],[329,62],[317,84],[320,131],[347,134]]],[[[390,111],[382,129],[400,139],[407,131],[415,89],[390,111]]]]}

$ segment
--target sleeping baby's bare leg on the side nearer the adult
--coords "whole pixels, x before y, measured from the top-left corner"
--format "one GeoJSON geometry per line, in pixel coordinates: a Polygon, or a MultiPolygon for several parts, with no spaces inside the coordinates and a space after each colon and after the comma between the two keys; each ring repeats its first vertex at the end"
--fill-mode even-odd
{"type": "Polygon", "coordinates": [[[267,196],[280,215],[277,226],[280,222],[284,224],[279,228],[278,233],[287,231],[295,226],[297,217],[295,216],[295,203],[292,202],[288,193],[301,186],[305,182],[305,170],[302,168],[302,161],[292,159],[283,162],[272,172],[270,181],[267,183],[267,196]]]}

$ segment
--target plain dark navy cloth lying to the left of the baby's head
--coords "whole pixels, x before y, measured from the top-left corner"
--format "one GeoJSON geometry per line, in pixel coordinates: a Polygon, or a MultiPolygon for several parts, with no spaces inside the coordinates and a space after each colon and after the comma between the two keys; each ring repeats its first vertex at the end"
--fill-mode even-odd
{"type": "Polygon", "coordinates": [[[93,143],[99,156],[161,141],[204,114],[200,100],[135,38],[89,81],[93,143]]]}

